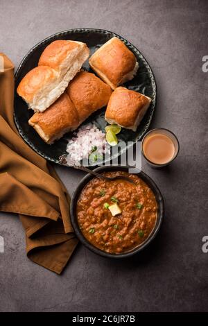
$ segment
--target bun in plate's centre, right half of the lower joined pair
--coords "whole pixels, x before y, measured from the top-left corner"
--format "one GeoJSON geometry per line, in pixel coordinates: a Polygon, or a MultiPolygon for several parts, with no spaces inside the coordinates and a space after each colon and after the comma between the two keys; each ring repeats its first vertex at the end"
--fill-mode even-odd
{"type": "Polygon", "coordinates": [[[109,85],[87,71],[80,71],[67,87],[67,94],[78,111],[80,121],[107,105],[112,90],[109,85]]]}

